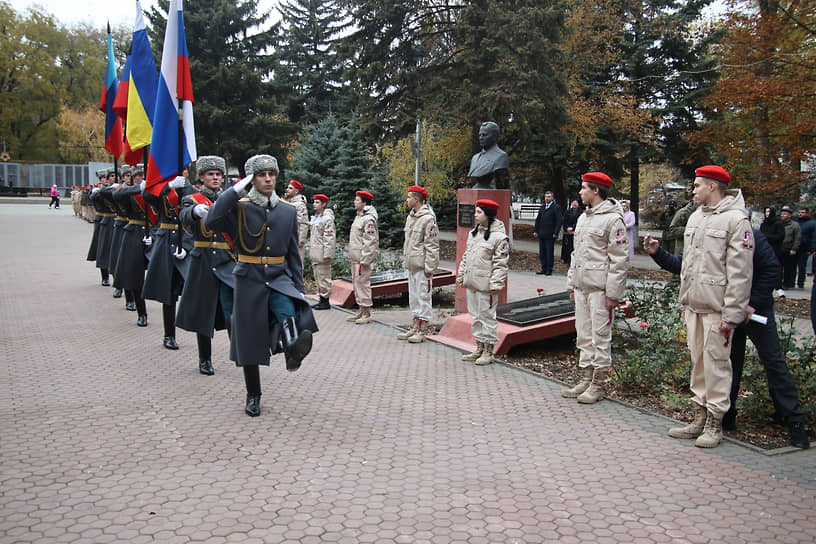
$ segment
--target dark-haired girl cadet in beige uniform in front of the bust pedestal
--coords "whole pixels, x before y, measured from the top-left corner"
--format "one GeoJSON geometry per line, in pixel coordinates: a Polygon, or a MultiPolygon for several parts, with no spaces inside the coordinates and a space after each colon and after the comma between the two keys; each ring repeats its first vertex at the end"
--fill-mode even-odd
{"type": "Polygon", "coordinates": [[[493,346],[498,341],[496,307],[499,291],[507,281],[510,243],[504,223],[496,219],[499,205],[487,199],[476,201],[476,226],[468,236],[467,247],[459,263],[456,281],[467,289],[468,313],[473,320],[471,332],[476,351],[462,356],[477,365],[493,362],[493,346]]]}

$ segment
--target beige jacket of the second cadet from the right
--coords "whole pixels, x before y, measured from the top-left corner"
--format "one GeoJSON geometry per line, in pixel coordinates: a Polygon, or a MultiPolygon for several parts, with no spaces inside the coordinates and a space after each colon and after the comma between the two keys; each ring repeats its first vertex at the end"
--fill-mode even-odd
{"type": "Polygon", "coordinates": [[[629,238],[620,203],[607,198],[590,206],[575,225],[575,249],[567,272],[567,290],[604,291],[612,300],[626,292],[629,238]]]}

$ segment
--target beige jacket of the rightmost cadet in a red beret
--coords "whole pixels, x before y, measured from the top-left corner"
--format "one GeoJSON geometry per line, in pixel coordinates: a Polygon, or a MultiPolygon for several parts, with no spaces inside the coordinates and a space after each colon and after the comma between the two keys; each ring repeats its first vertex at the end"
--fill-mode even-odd
{"type": "Polygon", "coordinates": [[[697,313],[745,320],[754,275],[754,233],[739,189],[691,214],[683,236],[679,302],[697,313]]]}

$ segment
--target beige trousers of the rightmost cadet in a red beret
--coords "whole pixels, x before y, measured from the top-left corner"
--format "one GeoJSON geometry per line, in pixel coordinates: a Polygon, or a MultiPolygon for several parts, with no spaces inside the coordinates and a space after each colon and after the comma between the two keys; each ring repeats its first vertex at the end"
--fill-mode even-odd
{"type": "Polygon", "coordinates": [[[731,406],[731,338],[719,330],[719,313],[686,309],[684,318],[691,352],[692,400],[722,417],[731,406]]]}

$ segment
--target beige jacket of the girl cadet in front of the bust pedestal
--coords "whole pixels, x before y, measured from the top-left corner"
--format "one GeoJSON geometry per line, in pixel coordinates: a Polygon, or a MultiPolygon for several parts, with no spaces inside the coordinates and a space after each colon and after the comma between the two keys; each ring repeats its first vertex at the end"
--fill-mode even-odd
{"type": "Polygon", "coordinates": [[[484,233],[484,227],[479,227],[476,236],[472,232],[468,233],[467,246],[456,278],[474,291],[501,291],[507,281],[510,261],[510,243],[504,223],[494,220],[487,240],[484,239],[484,233]]]}

